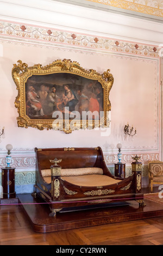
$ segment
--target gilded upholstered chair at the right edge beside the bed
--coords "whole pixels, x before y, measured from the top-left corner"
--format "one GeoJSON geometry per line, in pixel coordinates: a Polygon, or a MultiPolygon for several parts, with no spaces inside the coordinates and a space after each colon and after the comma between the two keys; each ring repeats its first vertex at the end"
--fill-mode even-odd
{"type": "Polygon", "coordinates": [[[148,162],[149,187],[153,192],[153,184],[163,184],[163,162],[151,161],[148,162]]]}

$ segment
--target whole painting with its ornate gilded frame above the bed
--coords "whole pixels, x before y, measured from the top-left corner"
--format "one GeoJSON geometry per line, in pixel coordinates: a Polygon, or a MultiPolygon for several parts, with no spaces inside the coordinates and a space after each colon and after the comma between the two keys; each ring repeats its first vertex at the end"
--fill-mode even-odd
{"type": "Polygon", "coordinates": [[[28,66],[18,60],[12,78],[18,90],[18,127],[65,133],[109,127],[109,93],[114,83],[109,69],[99,74],[70,59],[55,60],[47,66],[28,66]]]}

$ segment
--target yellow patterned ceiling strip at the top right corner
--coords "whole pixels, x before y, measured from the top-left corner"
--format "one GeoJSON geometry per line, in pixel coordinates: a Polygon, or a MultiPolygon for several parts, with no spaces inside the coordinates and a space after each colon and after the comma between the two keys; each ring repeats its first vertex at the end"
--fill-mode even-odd
{"type": "MultiPolygon", "coordinates": [[[[158,17],[163,17],[163,9],[160,9],[163,2],[160,0],[154,0],[154,6],[148,5],[150,3],[149,0],[145,0],[146,4],[135,3],[135,0],[126,1],[126,0],[86,0],[95,3],[101,3],[105,5],[109,5],[111,7],[121,8],[124,10],[136,11],[138,13],[154,15],[158,17]]],[[[139,1],[140,2],[140,1],[139,1]]]]}

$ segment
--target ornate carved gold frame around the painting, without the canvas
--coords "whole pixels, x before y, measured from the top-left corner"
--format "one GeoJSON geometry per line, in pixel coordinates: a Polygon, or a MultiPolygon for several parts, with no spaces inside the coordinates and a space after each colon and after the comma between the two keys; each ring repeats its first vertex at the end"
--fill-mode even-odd
{"type": "Polygon", "coordinates": [[[53,63],[42,66],[41,64],[36,64],[34,66],[28,66],[28,64],[23,63],[21,60],[18,60],[18,64],[14,64],[12,68],[12,78],[16,84],[18,90],[18,95],[15,99],[15,107],[18,111],[17,124],[19,127],[35,127],[39,130],[43,129],[54,129],[62,130],[65,133],[71,133],[73,130],[79,129],[94,129],[95,127],[109,127],[110,120],[108,117],[109,111],[111,110],[111,103],[109,100],[109,93],[114,82],[114,78],[108,69],[103,74],[99,74],[93,69],[89,71],[83,69],[79,63],[72,62],[70,59],[64,60],[55,60],[53,63]],[[45,117],[30,118],[27,115],[26,108],[26,95],[27,88],[26,83],[28,78],[32,76],[42,76],[50,74],[73,74],[88,80],[97,81],[102,86],[103,91],[103,118],[101,120],[65,120],[58,121],[57,124],[54,124],[54,118],[46,119],[45,117]],[[62,122],[62,124],[61,124],[62,122]],[[71,125],[70,125],[71,123],[71,125]]]}

